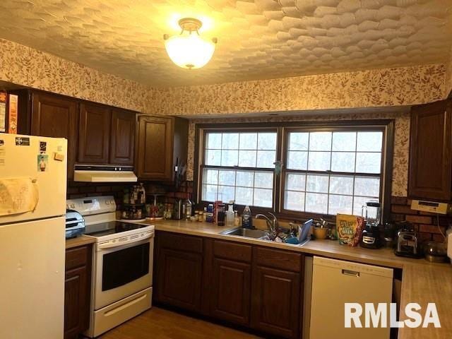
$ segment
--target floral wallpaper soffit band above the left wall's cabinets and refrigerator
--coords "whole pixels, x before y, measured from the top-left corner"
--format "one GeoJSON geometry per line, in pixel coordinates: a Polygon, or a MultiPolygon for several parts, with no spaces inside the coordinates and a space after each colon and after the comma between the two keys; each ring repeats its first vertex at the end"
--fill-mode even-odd
{"type": "Polygon", "coordinates": [[[150,112],[157,91],[147,85],[0,39],[0,81],[150,112]]]}

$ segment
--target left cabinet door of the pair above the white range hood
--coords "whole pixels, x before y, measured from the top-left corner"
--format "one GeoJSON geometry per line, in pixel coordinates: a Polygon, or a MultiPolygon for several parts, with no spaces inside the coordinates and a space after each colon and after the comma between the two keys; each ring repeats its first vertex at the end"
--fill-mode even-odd
{"type": "Polygon", "coordinates": [[[80,105],[80,129],[78,136],[78,162],[107,164],[111,110],[100,105],[80,105]]]}

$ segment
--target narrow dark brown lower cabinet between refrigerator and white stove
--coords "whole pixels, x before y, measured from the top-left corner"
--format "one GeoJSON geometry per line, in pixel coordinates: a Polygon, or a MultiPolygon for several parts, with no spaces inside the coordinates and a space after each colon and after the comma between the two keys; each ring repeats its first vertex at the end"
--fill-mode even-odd
{"type": "Polygon", "coordinates": [[[66,249],[64,339],[78,338],[90,326],[92,246],[66,249]]]}

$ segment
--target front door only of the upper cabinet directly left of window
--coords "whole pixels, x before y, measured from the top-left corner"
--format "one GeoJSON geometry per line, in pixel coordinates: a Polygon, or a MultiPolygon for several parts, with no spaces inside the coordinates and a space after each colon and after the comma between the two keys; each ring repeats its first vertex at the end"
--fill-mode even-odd
{"type": "Polygon", "coordinates": [[[174,118],[138,118],[137,160],[141,179],[172,179],[174,118]]]}

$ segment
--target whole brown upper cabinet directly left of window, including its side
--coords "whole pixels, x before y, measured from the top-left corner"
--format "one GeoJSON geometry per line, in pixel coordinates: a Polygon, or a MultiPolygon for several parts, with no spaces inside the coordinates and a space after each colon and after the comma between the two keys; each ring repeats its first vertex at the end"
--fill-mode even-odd
{"type": "Polygon", "coordinates": [[[172,181],[176,162],[186,164],[188,121],[174,117],[138,117],[138,178],[172,181]]]}

